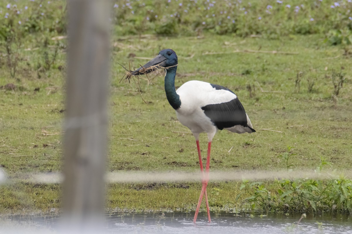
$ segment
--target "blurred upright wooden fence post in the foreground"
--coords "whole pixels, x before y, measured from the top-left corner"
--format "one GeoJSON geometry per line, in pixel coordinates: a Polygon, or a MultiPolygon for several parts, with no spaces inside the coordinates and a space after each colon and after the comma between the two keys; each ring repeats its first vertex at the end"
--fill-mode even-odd
{"type": "Polygon", "coordinates": [[[75,232],[94,232],[103,220],[110,7],[108,0],[68,1],[63,208],[75,232]]]}

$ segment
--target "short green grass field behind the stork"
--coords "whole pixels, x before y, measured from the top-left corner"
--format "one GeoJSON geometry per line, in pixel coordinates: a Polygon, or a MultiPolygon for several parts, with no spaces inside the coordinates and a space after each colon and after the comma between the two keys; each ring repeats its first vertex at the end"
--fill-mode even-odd
{"type": "MultiPolygon", "coordinates": [[[[133,83],[120,82],[125,70],[118,63],[127,68],[130,63],[131,68],[137,68],[147,60],[131,58],[131,53],[152,58],[163,48],[174,49],[179,57],[176,87],[194,79],[232,89],[257,130],[242,135],[218,132],[212,145],[211,171],[286,169],[284,160],[277,156],[287,151],[287,145],[293,146],[291,153],[297,154],[291,156],[293,170],[313,170],[321,157],[332,162],[338,171],[352,168],[350,58],[344,55],[342,46],[328,46],[323,38],[319,34],[279,40],[207,33],[199,39],[129,36],[118,40],[113,36],[118,43],[112,49],[111,59],[107,170],[199,171],[194,138],[177,133],[189,131],[177,121],[165,98],[163,78],[156,78],[158,85],[149,86],[149,90],[146,82],[141,84],[147,105],[133,83]],[[235,50],[298,54],[228,53],[235,50]],[[205,55],[206,52],[220,54],[205,55]],[[340,93],[333,96],[331,76],[341,67],[346,80],[340,93]],[[298,90],[295,83],[300,72],[303,76],[298,90]],[[310,92],[307,79],[315,81],[310,92]],[[268,128],[281,133],[260,130],[268,128]]],[[[24,51],[28,47],[31,44],[21,47],[25,59],[19,63],[16,79],[6,66],[0,68],[0,86],[15,85],[14,90],[0,90],[0,165],[15,181],[0,187],[1,213],[60,207],[59,185],[26,180],[31,173],[61,171],[63,135],[59,134],[65,114],[65,53],[60,50],[55,62],[55,67],[63,69],[51,68],[38,79],[37,71],[28,67],[26,61],[35,63],[43,55],[24,51]],[[39,91],[34,91],[36,88],[39,91]]],[[[201,135],[200,141],[202,151],[206,152],[206,135],[201,135]]],[[[276,185],[270,187],[270,181],[266,184],[277,189],[276,185]]],[[[237,181],[211,181],[208,194],[212,209],[245,208],[243,199],[235,199],[239,187],[237,181]],[[214,187],[221,190],[219,195],[210,193],[214,187]]],[[[193,210],[200,188],[200,182],[109,184],[106,208],[193,210]]]]}

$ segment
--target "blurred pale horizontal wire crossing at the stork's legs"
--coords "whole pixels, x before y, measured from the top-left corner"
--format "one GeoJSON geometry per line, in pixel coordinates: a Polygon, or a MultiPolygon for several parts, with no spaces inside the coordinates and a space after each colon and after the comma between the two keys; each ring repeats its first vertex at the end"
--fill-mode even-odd
{"type": "MultiPolygon", "coordinates": [[[[11,183],[11,180],[2,182],[11,183]]],[[[17,175],[18,179],[33,183],[61,183],[64,179],[62,173],[37,173],[17,175]],[[27,179],[21,179],[27,178],[27,179]]],[[[212,171],[209,173],[210,181],[242,181],[242,180],[275,180],[275,179],[333,179],[340,176],[352,178],[351,171],[315,172],[307,171],[212,171]]],[[[148,171],[116,171],[105,176],[108,183],[136,183],[136,182],[198,182],[201,180],[200,172],[148,172],[148,171]]],[[[0,181],[1,182],[1,181],[0,181]]]]}

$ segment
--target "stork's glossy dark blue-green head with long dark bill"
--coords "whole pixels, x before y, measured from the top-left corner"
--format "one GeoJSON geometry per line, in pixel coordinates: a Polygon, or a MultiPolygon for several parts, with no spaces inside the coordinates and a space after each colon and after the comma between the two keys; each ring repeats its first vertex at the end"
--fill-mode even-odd
{"type": "Polygon", "coordinates": [[[152,72],[153,69],[140,73],[141,69],[143,71],[145,70],[143,68],[148,68],[151,66],[171,67],[171,68],[166,68],[166,70],[168,70],[172,68],[175,69],[176,68],[175,65],[177,65],[177,55],[175,51],[173,51],[172,49],[163,49],[162,51],[159,52],[158,56],[156,56],[155,58],[153,58],[152,60],[144,64],[142,67],[138,68],[136,71],[133,71],[132,75],[141,75],[141,74],[152,72]],[[175,66],[175,67],[172,67],[172,66],[175,66]]]}

